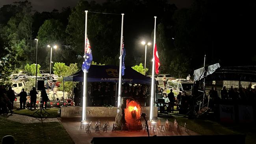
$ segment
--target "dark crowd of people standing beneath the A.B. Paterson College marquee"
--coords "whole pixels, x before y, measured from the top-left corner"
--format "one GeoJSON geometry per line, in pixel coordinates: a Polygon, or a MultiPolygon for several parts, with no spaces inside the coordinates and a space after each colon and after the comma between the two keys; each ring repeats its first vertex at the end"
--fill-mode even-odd
{"type": "MultiPolygon", "coordinates": [[[[102,106],[112,105],[116,106],[116,96],[118,89],[115,83],[89,83],[87,88],[87,105],[89,106],[102,106]]],[[[77,83],[74,88],[74,103],[75,105],[82,105],[83,85],[77,83]]],[[[122,97],[132,97],[140,105],[149,105],[148,95],[149,87],[147,85],[135,85],[125,83],[121,88],[122,97]]]]}

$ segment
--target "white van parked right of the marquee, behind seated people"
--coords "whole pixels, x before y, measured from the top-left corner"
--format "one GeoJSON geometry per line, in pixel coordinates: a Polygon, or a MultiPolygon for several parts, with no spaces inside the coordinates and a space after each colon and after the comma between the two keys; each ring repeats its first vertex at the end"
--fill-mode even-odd
{"type": "Polygon", "coordinates": [[[187,95],[191,95],[193,85],[194,81],[187,79],[175,79],[167,81],[166,93],[169,94],[171,92],[171,89],[173,89],[175,97],[179,94],[180,91],[186,91],[187,95]]]}

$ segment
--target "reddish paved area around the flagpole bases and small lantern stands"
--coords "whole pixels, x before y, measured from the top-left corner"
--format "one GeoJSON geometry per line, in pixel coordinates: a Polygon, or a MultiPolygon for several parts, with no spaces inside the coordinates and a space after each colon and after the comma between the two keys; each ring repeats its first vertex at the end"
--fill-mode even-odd
{"type": "MultiPolygon", "coordinates": [[[[93,137],[139,137],[139,136],[145,136],[147,137],[147,131],[141,130],[141,131],[116,131],[112,132],[112,125],[115,120],[115,118],[108,118],[109,125],[108,132],[103,132],[103,126],[99,127],[100,133],[95,133],[95,129],[91,129],[91,133],[86,133],[85,127],[80,129],[80,119],[81,118],[60,118],[61,124],[64,126],[64,128],[69,133],[70,137],[76,144],[91,144],[91,140],[93,137]]],[[[92,121],[92,125],[94,128],[95,121],[98,120],[96,118],[91,118],[88,121],[92,121]]],[[[104,121],[107,120],[106,118],[100,118],[101,123],[103,124],[104,121]]],[[[161,122],[164,124],[165,119],[160,119],[161,122]]],[[[171,126],[173,128],[173,122],[170,122],[171,126]]],[[[180,126],[180,130],[176,131],[173,129],[173,131],[160,131],[158,128],[156,132],[152,132],[152,129],[150,130],[150,136],[157,135],[157,136],[176,136],[176,135],[198,135],[197,133],[193,131],[185,132],[184,127],[180,126]]]]}

